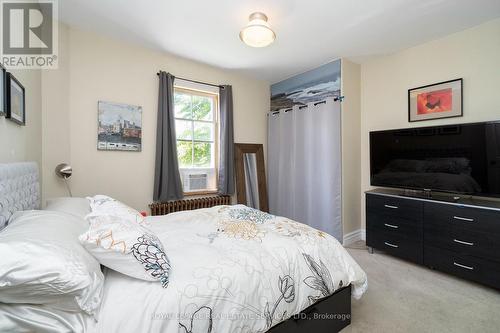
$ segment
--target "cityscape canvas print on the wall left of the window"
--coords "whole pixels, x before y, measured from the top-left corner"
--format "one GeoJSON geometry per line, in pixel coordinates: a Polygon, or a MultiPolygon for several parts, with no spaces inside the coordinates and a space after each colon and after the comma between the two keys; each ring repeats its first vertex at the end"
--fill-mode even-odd
{"type": "Polygon", "coordinates": [[[142,107],[98,102],[98,150],[142,150],[142,107]]]}

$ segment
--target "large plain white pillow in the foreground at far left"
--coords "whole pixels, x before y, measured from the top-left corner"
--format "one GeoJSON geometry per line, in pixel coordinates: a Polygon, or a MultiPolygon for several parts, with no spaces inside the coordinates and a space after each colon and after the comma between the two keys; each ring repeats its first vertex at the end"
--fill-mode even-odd
{"type": "Polygon", "coordinates": [[[96,315],[104,276],[78,242],[88,224],[53,211],[15,213],[0,232],[0,302],[96,315]]]}

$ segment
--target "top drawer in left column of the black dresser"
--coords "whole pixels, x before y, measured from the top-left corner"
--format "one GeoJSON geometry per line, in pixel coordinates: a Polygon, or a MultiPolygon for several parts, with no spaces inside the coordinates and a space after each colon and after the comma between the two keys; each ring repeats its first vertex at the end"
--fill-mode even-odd
{"type": "Polygon", "coordinates": [[[412,199],[367,193],[366,210],[367,215],[375,213],[402,221],[421,222],[423,219],[423,202],[412,199]]]}

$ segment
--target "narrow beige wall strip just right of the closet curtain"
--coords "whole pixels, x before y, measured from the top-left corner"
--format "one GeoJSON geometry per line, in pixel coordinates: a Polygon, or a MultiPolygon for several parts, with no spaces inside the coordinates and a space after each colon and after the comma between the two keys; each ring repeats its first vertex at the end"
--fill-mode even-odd
{"type": "Polygon", "coordinates": [[[342,223],[344,236],[359,229],[361,212],[361,67],[342,59],[342,223]]]}

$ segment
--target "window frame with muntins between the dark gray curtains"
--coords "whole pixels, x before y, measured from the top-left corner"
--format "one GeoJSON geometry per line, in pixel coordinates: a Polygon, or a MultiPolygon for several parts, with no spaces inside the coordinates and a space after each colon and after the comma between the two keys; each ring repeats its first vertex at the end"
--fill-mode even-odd
{"type": "MultiPolygon", "coordinates": [[[[191,140],[184,140],[184,139],[177,139],[177,128],[176,128],[176,138],[175,138],[175,142],[176,142],[176,147],[177,147],[177,141],[183,141],[183,142],[192,142],[193,143],[193,147],[194,147],[194,143],[212,143],[213,144],[213,147],[214,147],[214,166],[213,168],[209,167],[209,168],[196,168],[196,167],[191,167],[191,168],[181,168],[179,166],[179,169],[182,169],[182,170],[196,170],[196,169],[200,169],[200,170],[203,170],[203,169],[214,169],[214,173],[215,173],[215,189],[206,189],[206,190],[201,190],[201,191],[190,191],[190,192],[186,192],[184,191],[184,188],[183,188],[183,193],[184,193],[184,196],[196,196],[196,195],[210,195],[210,194],[217,194],[218,193],[218,188],[217,188],[217,184],[219,182],[219,126],[220,126],[220,122],[219,122],[219,113],[220,113],[220,110],[219,110],[219,94],[218,93],[215,93],[215,92],[210,92],[210,91],[204,91],[204,90],[200,90],[200,89],[195,89],[195,88],[187,88],[187,87],[183,87],[183,86],[177,86],[177,85],[174,85],[174,96],[176,93],[184,93],[184,94],[188,94],[188,95],[195,95],[195,96],[203,96],[203,97],[209,97],[209,98],[212,98],[213,99],[213,116],[212,116],[212,120],[209,121],[209,120],[194,120],[194,119],[185,119],[185,118],[177,118],[175,116],[175,111],[174,111],[174,121],[176,120],[184,120],[184,121],[190,121],[193,123],[193,126],[194,126],[194,123],[198,122],[198,123],[206,123],[206,124],[213,124],[214,126],[214,138],[213,138],[213,141],[203,141],[203,140],[195,140],[194,139],[194,129],[193,129],[193,133],[191,134],[191,140]]],[[[175,109],[175,102],[174,102],[174,109],[175,109]]],[[[193,152],[194,154],[194,148],[193,148],[193,152]]],[[[177,157],[179,157],[179,155],[177,155],[177,157]]],[[[193,157],[193,161],[194,161],[194,157],[193,157]]]]}

